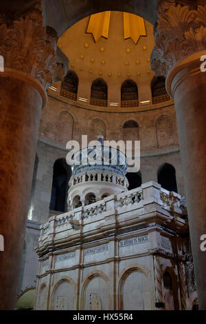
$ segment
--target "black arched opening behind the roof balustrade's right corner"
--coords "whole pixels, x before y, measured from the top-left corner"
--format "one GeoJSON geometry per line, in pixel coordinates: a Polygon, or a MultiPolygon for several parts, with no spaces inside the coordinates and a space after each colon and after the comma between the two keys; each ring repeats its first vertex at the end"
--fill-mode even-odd
{"type": "Polygon", "coordinates": [[[174,167],[169,163],[164,163],[157,171],[157,181],[162,188],[177,192],[176,172],[174,167]]]}

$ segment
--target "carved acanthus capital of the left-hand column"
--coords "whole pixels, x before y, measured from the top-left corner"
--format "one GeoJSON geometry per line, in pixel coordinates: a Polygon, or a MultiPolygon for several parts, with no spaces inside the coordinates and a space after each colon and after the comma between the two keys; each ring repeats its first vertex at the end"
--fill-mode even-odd
{"type": "Polygon", "coordinates": [[[23,17],[0,24],[0,55],[5,68],[25,72],[45,89],[67,72],[68,62],[60,50],[58,57],[57,41],[56,32],[43,25],[41,1],[23,17]]]}

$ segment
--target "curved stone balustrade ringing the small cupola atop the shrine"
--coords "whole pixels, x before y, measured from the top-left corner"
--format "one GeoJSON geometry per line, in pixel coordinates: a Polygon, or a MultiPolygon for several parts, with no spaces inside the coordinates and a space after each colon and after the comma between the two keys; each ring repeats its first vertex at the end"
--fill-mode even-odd
{"type": "Polygon", "coordinates": [[[69,187],[71,188],[71,186],[73,185],[78,185],[79,183],[91,181],[115,183],[117,185],[121,185],[124,188],[128,188],[128,180],[126,179],[126,177],[119,176],[117,174],[111,174],[108,172],[96,171],[88,174],[78,174],[76,176],[71,176],[71,179],[69,181],[69,187]]]}

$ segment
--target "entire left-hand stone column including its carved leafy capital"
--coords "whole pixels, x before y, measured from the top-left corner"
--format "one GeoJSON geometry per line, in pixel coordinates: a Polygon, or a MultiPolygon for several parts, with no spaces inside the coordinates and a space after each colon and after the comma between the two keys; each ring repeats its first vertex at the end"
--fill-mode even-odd
{"type": "Polygon", "coordinates": [[[65,75],[57,63],[56,32],[43,26],[41,2],[18,19],[0,12],[0,308],[12,310],[21,266],[23,239],[41,109],[46,88],[65,75]]]}

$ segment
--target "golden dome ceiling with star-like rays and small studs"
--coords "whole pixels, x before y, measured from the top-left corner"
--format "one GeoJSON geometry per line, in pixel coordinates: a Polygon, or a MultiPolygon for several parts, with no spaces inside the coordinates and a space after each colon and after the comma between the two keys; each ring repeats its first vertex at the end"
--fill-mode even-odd
{"type": "MultiPolygon", "coordinates": [[[[70,61],[70,69],[84,85],[102,77],[118,87],[126,79],[139,85],[150,83],[150,54],[154,47],[153,26],[134,14],[100,12],[71,26],[58,46],[70,61]],[[143,36],[141,36],[143,35],[143,36]]],[[[82,88],[82,92],[81,92],[82,88]]],[[[88,88],[87,88],[88,89],[88,88]]]]}

